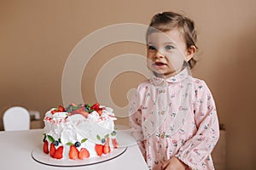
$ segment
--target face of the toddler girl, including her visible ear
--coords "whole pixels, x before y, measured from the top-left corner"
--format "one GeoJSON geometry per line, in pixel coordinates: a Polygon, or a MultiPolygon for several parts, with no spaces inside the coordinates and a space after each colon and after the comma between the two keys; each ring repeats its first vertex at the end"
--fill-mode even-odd
{"type": "Polygon", "coordinates": [[[191,59],[195,50],[188,49],[183,35],[174,29],[149,34],[147,52],[148,68],[158,77],[168,78],[183,69],[183,61],[191,59]]]}

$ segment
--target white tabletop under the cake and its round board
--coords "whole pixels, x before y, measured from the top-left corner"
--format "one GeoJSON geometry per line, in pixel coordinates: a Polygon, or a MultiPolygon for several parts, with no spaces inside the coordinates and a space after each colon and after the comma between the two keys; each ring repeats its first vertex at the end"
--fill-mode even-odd
{"type": "MultiPolygon", "coordinates": [[[[53,167],[34,161],[32,150],[43,144],[43,129],[0,132],[0,169],[93,169],[93,170],[148,170],[137,144],[128,146],[122,155],[101,163],[82,167],[53,167]]],[[[42,145],[43,146],[43,145],[42,145]]],[[[43,154],[43,152],[42,152],[43,154]]]]}

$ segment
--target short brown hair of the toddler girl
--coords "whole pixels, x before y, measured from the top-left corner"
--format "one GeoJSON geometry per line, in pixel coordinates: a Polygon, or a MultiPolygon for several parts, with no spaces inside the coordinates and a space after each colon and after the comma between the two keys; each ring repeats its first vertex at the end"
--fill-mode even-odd
{"type": "MultiPolygon", "coordinates": [[[[175,28],[177,28],[178,31],[183,34],[187,48],[190,48],[192,45],[197,48],[195,45],[197,35],[194,21],[183,16],[182,14],[177,14],[174,12],[155,14],[150,22],[150,25],[148,26],[146,37],[148,38],[148,35],[156,30],[166,32],[175,28]]],[[[190,68],[193,68],[195,66],[195,63],[196,60],[193,58],[188,61],[190,68]]]]}

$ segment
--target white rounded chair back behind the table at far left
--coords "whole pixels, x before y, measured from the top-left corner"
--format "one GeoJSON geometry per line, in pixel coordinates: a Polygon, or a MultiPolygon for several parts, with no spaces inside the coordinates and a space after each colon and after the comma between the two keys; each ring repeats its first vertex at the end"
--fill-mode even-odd
{"type": "Polygon", "coordinates": [[[5,131],[28,130],[30,128],[29,112],[20,106],[9,108],[3,114],[3,127],[5,131]]]}

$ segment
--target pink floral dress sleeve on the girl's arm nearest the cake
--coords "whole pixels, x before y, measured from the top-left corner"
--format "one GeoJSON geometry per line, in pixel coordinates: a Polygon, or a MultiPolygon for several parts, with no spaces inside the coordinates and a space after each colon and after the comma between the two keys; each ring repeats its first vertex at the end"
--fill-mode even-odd
{"type": "Polygon", "coordinates": [[[131,135],[137,140],[137,144],[145,157],[145,147],[143,141],[143,130],[142,130],[142,110],[140,101],[140,87],[137,88],[137,93],[133,96],[130,101],[129,107],[129,124],[131,127],[131,135]]]}

